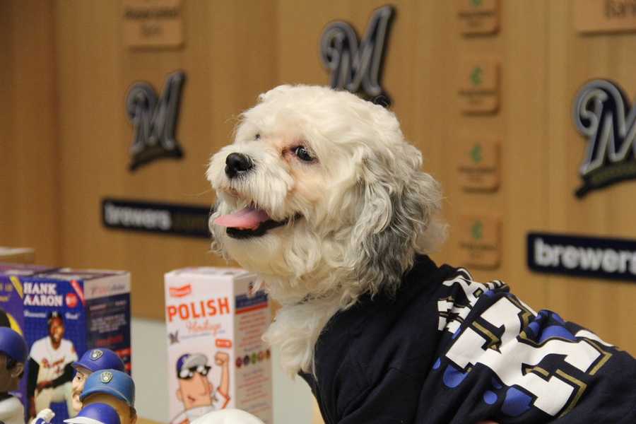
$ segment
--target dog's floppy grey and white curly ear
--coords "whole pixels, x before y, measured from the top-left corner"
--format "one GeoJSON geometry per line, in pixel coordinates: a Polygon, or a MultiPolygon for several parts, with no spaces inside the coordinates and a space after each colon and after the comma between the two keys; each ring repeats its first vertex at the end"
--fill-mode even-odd
{"type": "Polygon", "coordinates": [[[393,294],[416,252],[430,252],[443,240],[445,225],[435,220],[442,194],[435,179],[420,171],[421,163],[420,152],[406,143],[389,158],[365,158],[359,214],[351,234],[360,287],[358,293],[348,293],[351,297],[393,294]]]}

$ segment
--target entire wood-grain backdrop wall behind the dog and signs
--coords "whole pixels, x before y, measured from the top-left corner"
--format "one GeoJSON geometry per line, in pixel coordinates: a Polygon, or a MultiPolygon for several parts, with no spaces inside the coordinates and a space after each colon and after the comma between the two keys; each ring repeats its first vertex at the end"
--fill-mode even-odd
{"type": "MultiPolygon", "coordinates": [[[[611,78],[636,93],[636,35],[580,35],[575,1],[500,1],[500,31],[463,37],[452,1],[393,1],[384,87],[425,169],[444,187],[450,237],[435,255],[459,264],[459,217],[502,218],[501,278],[535,309],[558,310],[603,338],[636,351],[636,285],[542,276],[526,267],[526,234],[549,230],[636,239],[636,182],[582,200],[577,168],[583,139],[572,100],[590,78],[611,78]],[[498,59],[500,112],[459,111],[458,70],[466,58],[498,59]],[[459,187],[462,137],[501,142],[502,182],[495,193],[459,187]]],[[[163,318],[163,273],[180,266],[221,265],[208,242],[105,230],[104,196],[208,206],[209,155],[230,141],[234,117],[279,83],[326,84],[319,38],[326,23],[347,20],[359,34],[384,2],[195,1],[183,3],[184,47],[131,50],[122,40],[118,1],[0,2],[0,244],[28,245],[40,261],[128,269],[134,314],[163,318]],[[35,28],[35,30],[33,30],[35,28]],[[126,90],[187,73],[177,139],[184,160],[127,170],[133,133],[126,90]]]]}

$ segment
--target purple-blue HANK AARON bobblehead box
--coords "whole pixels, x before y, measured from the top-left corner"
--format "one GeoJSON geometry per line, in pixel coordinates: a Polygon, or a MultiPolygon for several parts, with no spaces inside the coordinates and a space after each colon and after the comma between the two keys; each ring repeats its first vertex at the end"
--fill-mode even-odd
{"type": "Polygon", "coordinates": [[[88,348],[112,349],[130,370],[129,273],[0,266],[0,284],[0,308],[29,346],[20,396],[27,418],[44,408],[60,422],[76,415],[71,363],[88,348]]]}

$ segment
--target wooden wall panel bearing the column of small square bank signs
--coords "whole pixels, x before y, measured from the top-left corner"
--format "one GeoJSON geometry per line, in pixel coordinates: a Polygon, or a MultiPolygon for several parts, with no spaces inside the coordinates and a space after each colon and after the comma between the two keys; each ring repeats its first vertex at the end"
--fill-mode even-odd
{"type": "MultiPolygon", "coordinates": [[[[317,45],[324,25],[331,20],[346,20],[363,35],[370,13],[384,2],[312,4],[306,5],[305,13],[298,12],[295,2],[280,4],[280,43],[285,45],[278,53],[280,80],[325,84],[329,83],[329,74],[319,62],[317,47],[312,47],[317,45]],[[320,21],[314,19],[316,16],[320,21]]],[[[393,4],[396,18],[383,86],[394,99],[392,110],[399,117],[407,139],[423,151],[425,169],[444,188],[449,240],[435,258],[459,264],[457,225],[461,214],[501,216],[502,266],[494,271],[473,272],[482,281],[506,278],[522,298],[541,305],[546,302],[546,282],[539,281],[526,269],[525,232],[548,223],[541,201],[547,194],[547,175],[537,175],[534,167],[514,164],[539,165],[547,158],[544,125],[547,116],[541,102],[546,95],[547,64],[543,58],[548,45],[548,4],[546,1],[531,5],[505,3],[502,8],[505,30],[493,37],[462,37],[452,1],[393,4]],[[506,24],[511,22],[514,25],[506,24]],[[502,107],[498,114],[466,116],[459,111],[459,64],[462,59],[475,57],[499,59],[502,64],[502,107]],[[513,65],[528,63],[536,66],[513,65]],[[502,142],[502,184],[494,194],[468,193],[459,188],[456,167],[461,152],[457,141],[463,136],[476,135],[493,136],[502,142]],[[529,143],[533,148],[528,148],[529,143]]]]}

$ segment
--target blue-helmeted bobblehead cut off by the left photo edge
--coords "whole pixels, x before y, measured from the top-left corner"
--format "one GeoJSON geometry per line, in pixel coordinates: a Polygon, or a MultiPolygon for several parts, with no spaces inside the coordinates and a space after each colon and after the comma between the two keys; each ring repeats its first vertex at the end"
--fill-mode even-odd
{"type": "Polygon", "coordinates": [[[6,326],[0,327],[0,422],[5,424],[24,424],[22,402],[9,391],[18,389],[27,351],[20,334],[6,326]]]}

